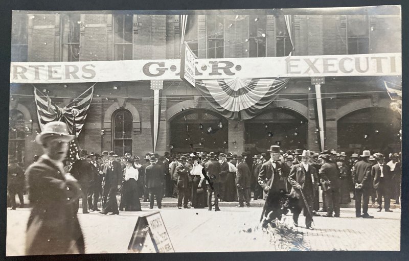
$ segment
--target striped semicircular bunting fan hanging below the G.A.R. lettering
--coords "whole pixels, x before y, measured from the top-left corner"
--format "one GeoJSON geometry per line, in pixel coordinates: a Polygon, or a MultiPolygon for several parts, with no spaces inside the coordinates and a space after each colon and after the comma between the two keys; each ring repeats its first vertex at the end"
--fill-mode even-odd
{"type": "Polygon", "coordinates": [[[288,78],[196,80],[196,88],[224,117],[248,120],[274,102],[288,81],[288,78]]]}

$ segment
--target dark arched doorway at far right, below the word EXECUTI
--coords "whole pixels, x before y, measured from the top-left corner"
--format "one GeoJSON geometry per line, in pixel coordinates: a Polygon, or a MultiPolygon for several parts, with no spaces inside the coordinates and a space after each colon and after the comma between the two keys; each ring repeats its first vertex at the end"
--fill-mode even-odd
{"type": "Polygon", "coordinates": [[[399,152],[400,128],[400,115],[389,108],[359,109],[338,120],[338,146],[348,153],[399,152]]]}

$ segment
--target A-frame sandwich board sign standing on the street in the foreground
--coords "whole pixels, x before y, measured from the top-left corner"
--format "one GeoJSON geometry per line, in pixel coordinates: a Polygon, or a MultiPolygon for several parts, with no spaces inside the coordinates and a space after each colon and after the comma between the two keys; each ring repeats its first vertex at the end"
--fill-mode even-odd
{"type": "Polygon", "coordinates": [[[149,212],[138,217],[128,245],[128,253],[175,252],[161,212],[149,212]]]}

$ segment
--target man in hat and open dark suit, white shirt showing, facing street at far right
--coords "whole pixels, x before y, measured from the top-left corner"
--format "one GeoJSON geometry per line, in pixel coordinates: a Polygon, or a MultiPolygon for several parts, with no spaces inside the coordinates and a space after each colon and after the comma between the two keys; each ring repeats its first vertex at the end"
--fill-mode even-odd
{"type": "Polygon", "coordinates": [[[391,207],[391,169],[387,164],[384,164],[384,158],[381,153],[376,154],[377,164],[372,166],[372,178],[374,180],[374,188],[376,189],[376,202],[378,202],[378,212],[382,210],[382,197],[384,198],[384,207],[386,212],[392,212],[391,207]]]}

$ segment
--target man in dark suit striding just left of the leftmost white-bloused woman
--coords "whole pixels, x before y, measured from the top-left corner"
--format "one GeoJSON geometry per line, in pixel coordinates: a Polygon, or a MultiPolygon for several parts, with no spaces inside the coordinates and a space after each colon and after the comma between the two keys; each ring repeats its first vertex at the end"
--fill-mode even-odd
{"type": "Polygon", "coordinates": [[[108,189],[108,198],[105,207],[99,211],[103,215],[109,212],[111,212],[110,215],[119,215],[117,191],[118,181],[122,180],[122,166],[121,163],[115,160],[116,156],[118,155],[115,154],[115,152],[109,152],[109,160],[104,165],[104,173],[106,176],[104,189],[108,189]]]}

